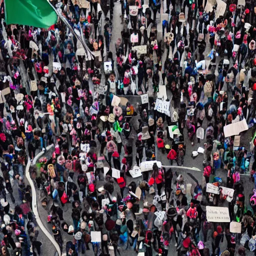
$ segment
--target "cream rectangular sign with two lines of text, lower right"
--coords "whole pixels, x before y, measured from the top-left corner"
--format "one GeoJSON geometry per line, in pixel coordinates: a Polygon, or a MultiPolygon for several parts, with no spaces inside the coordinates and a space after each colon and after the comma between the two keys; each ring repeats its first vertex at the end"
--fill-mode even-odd
{"type": "Polygon", "coordinates": [[[230,222],[228,207],[206,206],[208,222],[230,222]]]}

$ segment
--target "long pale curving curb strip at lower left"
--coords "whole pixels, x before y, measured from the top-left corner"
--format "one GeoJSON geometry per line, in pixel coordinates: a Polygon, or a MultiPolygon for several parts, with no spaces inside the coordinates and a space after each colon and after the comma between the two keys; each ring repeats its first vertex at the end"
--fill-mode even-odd
{"type": "MultiPolygon", "coordinates": [[[[45,151],[49,150],[51,147],[53,146],[53,144],[49,145],[46,147],[45,151]]],[[[43,155],[45,153],[45,151],[41,151],[40,153],[38,153],[32,163],[34,164],[37,159],[43,155]]],[[[56,248],[56,251],[58,253],[58,256],[61,256],[61,252],[60,252],[60,249],[59,249],[59,246],[57,244],[57,242],[55,241],[54,237],[52,236],[52,234],[44,227],[40,217],[39,217],[39,214],[38,214],[38,209],[37,209],[37,198],[36,198],[36,190],[35,190],[35,187],[34,187],[34,183],[30,177],[30,173],[29,173],[29,167],[31,165],[31,160],[30,158],[28,158],[28,161],[27,161],[27,164],[26,164],[26,168],[25,168],[25,175],[26,175],[26,178],[29,182],[29,185],[31,186],[31,191],[32,191],[32,211],[34,213],[34,217],[36,219],[36,222],[38,224],[38,226],[40,227],[40,229],[42,230],[42,232],[47,236],[47,238],[50,240],[50,242],[54,245],[54,247],[56,248]]]]}

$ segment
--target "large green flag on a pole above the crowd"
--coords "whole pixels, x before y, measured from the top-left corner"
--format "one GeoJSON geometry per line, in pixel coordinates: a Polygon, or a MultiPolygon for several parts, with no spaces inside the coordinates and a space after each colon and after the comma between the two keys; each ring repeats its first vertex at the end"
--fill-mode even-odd
{"type": "Polygon", "coordinates": [[[47,0],[4,0],[6,24],[48,28],[57,14],[47,0]]]}

